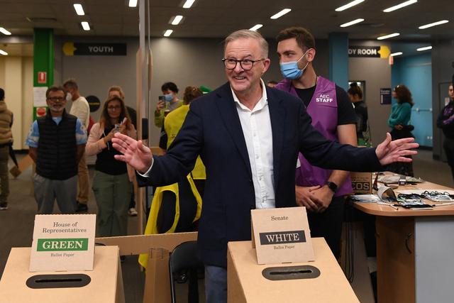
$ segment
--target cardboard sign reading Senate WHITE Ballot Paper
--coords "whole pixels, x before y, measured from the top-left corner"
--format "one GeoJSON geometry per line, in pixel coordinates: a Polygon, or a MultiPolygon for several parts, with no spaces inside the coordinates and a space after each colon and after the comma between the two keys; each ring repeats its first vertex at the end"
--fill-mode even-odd
{"type": "Polygon", "coordinates": [[[251,210],[258,264],[315,260],[306,208],[251,210]]]}

